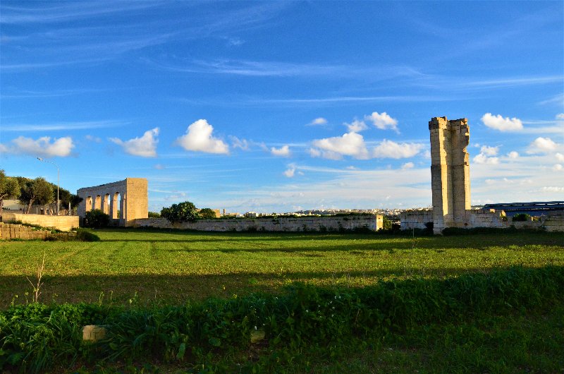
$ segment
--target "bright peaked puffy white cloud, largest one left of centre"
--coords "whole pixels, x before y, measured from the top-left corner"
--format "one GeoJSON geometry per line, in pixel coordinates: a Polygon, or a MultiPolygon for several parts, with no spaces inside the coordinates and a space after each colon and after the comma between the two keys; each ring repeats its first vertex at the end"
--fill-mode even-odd
{"type": "Polygon", "coordinates": [[[186,134],[176,139],[176,143],[185,150],[195,152],[228,154],[229,146],[223,140],[212,136],[214,127],[205,119],[198,119],[186,130],[186,134]]]}

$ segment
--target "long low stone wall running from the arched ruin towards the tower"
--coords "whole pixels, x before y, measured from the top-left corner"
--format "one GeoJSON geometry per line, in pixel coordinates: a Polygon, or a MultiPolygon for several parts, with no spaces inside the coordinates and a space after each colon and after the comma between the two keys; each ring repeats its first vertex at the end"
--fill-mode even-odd
{"type": "Polygon", "coordinates": [[[164,218],[135,219],[133,227],[190,229],[197,231],[353,231],[382,228],[381,215],[346,217],[277,217],[244,219],[198,219],[195,222],[171,224],[164,218]]]}

